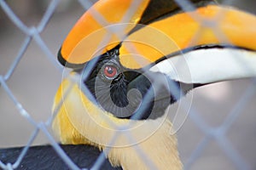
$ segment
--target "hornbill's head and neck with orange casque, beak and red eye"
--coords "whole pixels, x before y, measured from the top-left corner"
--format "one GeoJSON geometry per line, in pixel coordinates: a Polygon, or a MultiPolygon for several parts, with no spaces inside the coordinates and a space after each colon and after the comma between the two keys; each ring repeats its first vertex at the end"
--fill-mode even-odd
{"type": "Polygon", "coordinates": [[[90,162],[106,149],[109,168],[182,169],[168,106],[193,88],[255,77],[255,24],[211,0],[98,1],[58,53],[72,70],[55,96],[61,146],[90,162]]]}

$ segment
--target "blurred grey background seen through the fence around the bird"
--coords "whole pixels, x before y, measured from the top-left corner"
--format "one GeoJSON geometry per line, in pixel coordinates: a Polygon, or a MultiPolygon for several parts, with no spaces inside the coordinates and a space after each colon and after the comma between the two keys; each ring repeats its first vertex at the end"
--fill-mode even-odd
{"type": "MultiPolygon", "coordinates": [[[[20,0],[19,3],[15,0],[8,0],[6,2],[20,20],[29,27],[38,25],[50,3],[49,0],[20,0]]],[[[95,3],[96,1],[88,2],[95,3]]],[[[256,14],[256,1],[254,0],[223,2],[256,14]]],[[[53,54],[57,54],[61,42],[82,14],[84,14],[84,8],[78,1],[61,0],[41,34],[53,54]]],[[[0,8],[0,75],[4,75],[9,70],[25,38],[26,35],[9,20],[0,8]]],[[[252,81],[244,79],[198,88],[193,93],[192,108],[209,126],[218,127],[234,109],[247,88],[252,86],[252,81]]],[[[35,41],[30,43],[14,75],[8,81],[9,88],[15,97],[37,122],[45,122],[51,115],[53,99],[60,83],[61,72],[50,63],[35,41]]],[[[256,94],[252,94],[227,132],[227,138],[230,139],[233,147],[252,169],[256,169],[255,104],[256,94]]],[[[0,148],[26,145],[33,130],[34,127],[27,122],[26,118],[20,116],[14,103],[0,87],[0,148]]],[[[181,157],[183,162],[186,162],[205,134],[195,125],[195,122],[188,118],[177,136],[181,157]]],[[[44,134],[39,133],[33,145],[47,143],[48,140],[44,134]]],[[[225,155],[215,140],[207,144],[206,149],[191,166],[190,169],[236,169],[234,163],[225,155]]]]}

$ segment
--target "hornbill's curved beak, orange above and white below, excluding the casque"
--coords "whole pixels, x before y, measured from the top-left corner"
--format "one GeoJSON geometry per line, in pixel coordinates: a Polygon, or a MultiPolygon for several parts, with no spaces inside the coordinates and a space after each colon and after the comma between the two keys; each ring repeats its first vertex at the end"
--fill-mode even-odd
{"type": "Polygon", "coordinates": [[[256,16],[234,8],[209,5],[175,14],[127,39],[120,48],[127,68],[154,63],[150,71],[190,84],[256,77],[256,16]],[[142,59],[129,54],[131,45],[142,59]]]}

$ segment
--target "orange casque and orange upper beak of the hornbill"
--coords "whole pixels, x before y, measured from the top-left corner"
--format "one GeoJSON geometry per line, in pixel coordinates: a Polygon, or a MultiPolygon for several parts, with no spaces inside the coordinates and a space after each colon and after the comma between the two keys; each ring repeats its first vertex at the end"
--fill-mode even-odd
{"type": "MultiPolygon", "coordinates": [[[[160,19],[151,16],[154,20],[140,26],[138,23],[143,23],[144,14],[150,11],[150,2],[132,4],[134,2],[99,1],[85,12],[62,44],[61,64],[82,68],[90,59],[119,44],[122,44],[120,63],[129,69],[140,69],[187,48],[229,45],[256,50],[256,16],[253,14],[208,5],[195,11],[169,12],[160,19]],[[131,8],[132,5],[136,8],[131,8]]],[[[160,10],[164,8],[161,3],[159,1],[160,10]]]]}

